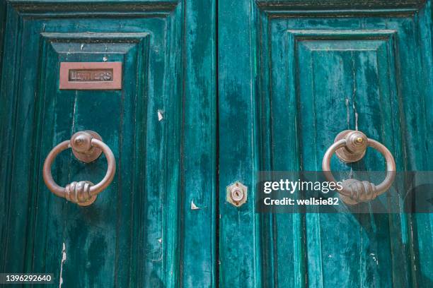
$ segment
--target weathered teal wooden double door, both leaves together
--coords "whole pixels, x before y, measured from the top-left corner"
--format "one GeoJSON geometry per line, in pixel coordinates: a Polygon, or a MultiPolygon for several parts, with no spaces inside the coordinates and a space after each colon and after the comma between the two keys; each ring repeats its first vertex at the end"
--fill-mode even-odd
{"type": "MultiPolygon", "coordinates": [[[[0,7],[0,272],[61,287],[432,287],[431,214],[255,210],[258,172],[320,171],[348,128],[399,171],[433,170],[430,1],[0,7]],[[60,89],[62,62],[121,62],[122,89],[60,89]],[[117,162],[86,208],[42,180],[48,152],[84,130],[117,162]]],[[[384,169],[374,153],[361,165],[384,169]]],[[[96,183],[106,167],[67,150],[52,174],[96,183]]]]}

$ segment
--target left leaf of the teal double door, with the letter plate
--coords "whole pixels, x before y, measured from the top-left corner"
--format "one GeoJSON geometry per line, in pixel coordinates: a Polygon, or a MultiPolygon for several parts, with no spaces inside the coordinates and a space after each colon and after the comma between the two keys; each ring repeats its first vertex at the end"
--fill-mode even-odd
{"type": "MultiPolygon", "coordinates": [[[[9,1],[2,272],[53,272],[62,287],[216,284],[215,20],[202,5],[9,1]],[[122,61],[123,89],[59,90],[61,61],[122,61]],[[80,208],[52,195],[41,171],[54,145],[87,129],[110,146],[117,174],[80,208]]],[[[105,167],[104,157],[84,165],[63,152],[53,175],[62,185],[96,183],[105,167]]]]}

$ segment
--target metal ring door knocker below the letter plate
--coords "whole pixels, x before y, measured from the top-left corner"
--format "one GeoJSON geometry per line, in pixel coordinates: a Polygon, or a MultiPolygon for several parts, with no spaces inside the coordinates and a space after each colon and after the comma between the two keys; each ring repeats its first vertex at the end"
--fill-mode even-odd
{"type": "Polygon", "coordinates": [[[115,157],[110,148],[103,143],[98,133],[93,131],[79,131],[71,137],[71,140],[59,143],[50,151],[47,159],[45,159],[43,177],[45,184],[55,195],[66,198],[78,205],[88,206],[95,202],[98,193],[102,192],[110,185],[115,172],[115,157]],[[104,178],[96,185],[93,185],[90,181],[74,181],[66,187],[57,185],[54,179],[52,179],[51,165],[55,157],[67,148],[71,148],[74,156],[85,163],[95,161],[100,154],[104,152],[108,162],[107,173],[104,178]]]}

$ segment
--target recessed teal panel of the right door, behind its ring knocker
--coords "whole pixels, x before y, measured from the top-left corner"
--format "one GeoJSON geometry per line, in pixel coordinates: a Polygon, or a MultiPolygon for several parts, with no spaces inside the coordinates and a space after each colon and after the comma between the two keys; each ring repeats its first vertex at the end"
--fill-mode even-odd
{"type": "MultiPolygon", "coordinates": [[[[359,128],[385,143],[396,157],[397,169],[408,169],[404,150],[410,148],[405,148],[408,143],[402,136],[408,135],[406,121],[413,124],[414,120],[406,108],[415,103],[421,106],[427,92],[420,89],[427,83],[419,71],[422,56],[411,17],[384,16],[383,21],[355,16],[342,20],[271,18],[266,22],[272,31],[269,50],[264,50],[265,56],[270,57],[270,66],[265,63],[263,68],[269,69],[270,80],[265,78],[262,83],[272,87],[272,92],[265,93],[262,104],[269,107],[266,109],[270,109],[273,119],[265,122],[270,125],[270,141],[277,139],[268,148],[272,169],[320,170],[327,143],[333,143],[335,135],[347,128],[359,128]],[[295,125],[296,130],[287,129],[290,125],[295,125]],[[289,153],[293,150],[299,154],[289,153]]],[[[427,128],[422,122],[418,126],[427,128]]],[[[267,140],[264,144],[270,145],[267,140]]],[[[332,167],[348,170],[347,177],[350,176],[350,168],[337,159],[332,167]]],[[[384,167],[381,155],[371,152],[353,169],[381,171],[384,167]]],[[[404,215],[302,217],[306,232],[295,241],[305,243],[308,283],[386,287],[398,275],[395,285],[410,285],[412,264],[404,244],[404,215]],[[379,263],[391,264],[389,269],[382,269],[379,263]],[[342,270],[344,276],[332,276],[342,270]]],[[[277,251],[281,251],[287,221],[290,220],[285,216],[276,217],[277,227],[279,222],[285,222],[276,232],[277,251]]],[[[294,244],[293,248],[297,245],[302,244],[294,244]]],[[[284,256],[278,258],[284,261],[284,256]]],[[[284,274],[278,275],[282,281],[287,280],[284,274]]]]}

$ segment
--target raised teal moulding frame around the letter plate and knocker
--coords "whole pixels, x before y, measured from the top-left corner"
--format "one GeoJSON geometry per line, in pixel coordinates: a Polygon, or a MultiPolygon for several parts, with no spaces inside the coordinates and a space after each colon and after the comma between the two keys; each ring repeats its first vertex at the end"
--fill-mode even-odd
{"type": "MultiPolygon", "coordinates": [[[[46,119],[50,119],[50,114],[47,114],[47,105],[50,104],[50,102],[47,102],[46,99],[47,97],[45,96],[46,94],[46,88],[47,88],[47,81],[49,81],[47,79],[47,69],[45,68],[45,64],[47,62],[47,54],[48,54],[48,49],[53,49],[54,52],[56,53],[65,53],[65,52],[59,52],[56,47],[54,47],[53,43],[68,43],[68,42],[76,42],[76,43],[88,43],[88,44],[94,44],[94,43],[101,43],[101,42],[110,42],[110,43],[115,43],[115,44],[120,44],[120,43],[132,43],[134,45],[138,45],[139,49],[137,49],[137,59],[141,59],[139,60],[140,63],[140,68],[144,71],[143,73],[146,73],[146,71],[149,71],[149,43],[150,43],[150,33],[149,32],[137,32],[137,33],[88,33],[88,32],[41,32],[40,33],[40,37],[42,38],[42,41],[40,43],[40,53],[41,53],[41,57],[40,57],[40,63],[39,63],[39,67],[38,67],[38,72],[40,73],[40,78],[42,79],[41,81],[38,81],[38,85],[36,87],[37,89],[37,95],[38,97],[36,98],[37,100],[37,104],[36,104],[36,112],[35,112],[35,121],[37,122],[37,126],[42,127],[42,129],[37,129],[36,134],[34,136],[34,143],[36,143],[35,145],[35,150],[37,151],[35,153],[35,155],[37,155],[35,157],[35,159],[33,160],[33,165],[35,167],[38,166],[38,163],[41,163],[42,159],[41,157],[43,157],[45,150],[49,150],[50,148],[47,147],[42,147],[42,143],[43,143],[43,136],[44,134],[46,135],[47,133],[50,134],[50,131],[43,131],[45,130],[44,127],[47,126],[46,123],[44,123],[44,120],[46,121],[46,119]],[[51,46],[51,47],[50,47],[51,46]],[[41,153],[42,152],[42,153],[41,153]]],[[[129,53],[130,49],[124,49],[122,51],[119,52],[119,54],[125,55],[127,53],[129,53]]],[[[56,72],[54,72],[56,73],[56,72]]],[[[57,72],[58,73],[58,72],[57,72]]],[[[132,131],[134,131],[134,135],[136,135],[136,138],[134,139],[134,141],[137,143],[137,147],[135,148],[136,150],[136,154],[144,154],[145,151],[145,145],[146,145],[146,131],[144,131],[142,128],[143,126],[146,126],[146,106],[147,106],[147,97],[146,97],[146,79],[145,78],[137,78],[137,85],[139,87],[139,90],[137,90],[137,92],[134,93],[134,96],[137,97],[142,97],[144,99],[144,101],[135,101],[137,102],[137,107],[135,107],[135,112],[134,114],[137,114],[137,116],[141,116],[140,120],[137,121],[136,126],[132,127],[132,131]]],[[[57,83],[52,85],[52,88],[57,90],[57,83]]],[[[50,126],[47,127],[48,130],[50,130],[50,126]]],[[[55,138],[55,137],[54,137],[55,138]]],[[[119,151],[118,153],[122,154],[121,151],[119,151]]],[[[132,167],[141,167],[142,168],[142,161],[140,161],[140,159],[134,159],[132,161],[132,167]]],[[[140,177],[142,169],[137,169],[137,171],[134,171],[134,173],[132,173],[129,176],[129,179],[132,179],[132,183],[139,183],[139,181],[137,181],[140,177]]],[[[28,210],[30,217],[35,217],[34,220],[35,222],[35,226],[30,225],[29,229],[37,229],[38,226],[37,223],[39,222],[41,224],[42,222],[42,228],[39,225],[39,229],[37,229],[36,232],[40,232],[41,230],[43,231],[43,229],[50,229],[50,225],[47,224],[47,220],[46,217],[47,215],[43,212],[43,210],[37,210],[37,208],[35,208],[35,203],[37,203],[36,207],[44,207],[46,204],[42,204],[41,205],[41,201],[42,203],[44,202],[50,202],[50,198],[52,199],[52,196],[50,196],[50,194],[45,195],[46,188],[44,186],[43,183],[41,183],[40,181],[37,181],[37,179],[40,178],[40,174],[39,174],[39,169],[33,174],[34,175],[34,181],[37,183],[40,183],[40,188],[35,190],[32,193],[32,196],[34,199],[33,201],[29,202],[28,205],[28,210]],[[41,194],[42,193],[42,197],[37,196],[36,194],[41,194]]],[[[120,193],[121,191],[125,191],[125,187],[121,187],[121,185],[123,184],[122,181],[120,183],[118,183],[118,185],[120,186],[116,193],[120,193]]],[[[125,184],[123,184],[125,185],[125,184]]],[[[134,220],[135,222],[137,222],[137,210],[140,210],[142,207],[144,207],[144,198],[137,198],[136,196],[134,197],[134,195],[137,195],[139,193],[143,193],[142,190],[143,187],[142,185],[135,185],[134,187],[132,187],[132,191],[135,191],[135,193],[132,194],[132,198],[134,198],[133,200],[130,200],[131,203],[134,203],[133,207],[131,210],[135,210],[134,213],[129,213],[129,210],[125,210],[122,212],[122,210],[120,210],[119,212],[119,217],[122,218],[122,220],[126,220],[126,222],[129,222],[129,225],[134,225],[134,220]],[[125,218],[125,215],[129,216],[125,218]]],[[[117,195],[118,198],[121,198],[120,195],[117,195]]],[[[122,196],[122,198],[125,200],[127,198],[127,196],[122,196]]],[[[58,200],[58,199],[55,199],[58,200]]],[[[50,207],[50,205],[48,205],[48,207],[50,207]]],[[[52,204],[51,204],[51,207],[52,204]]],[[[64,208],[64,207],[63,207],[64,208]]],[[[49,223],[49,222],[48,222],[49,223]]],[[[122,229],[122,227],[118,228],[118,229],[122,229]]],[[[125,229],[125,228],[123,228],[125,229]]],[[[34,234],[35,232],[31,232],[30,234],[34,234]]],[[[42,232],[42,234],[47,233],[47,232],[42,232]]],[[[142,243],[144,243],[144,239],[143,239],[143,234],[142,233],[136,233],[136,234],[131,234],[128,236],[131,236],[130,239],[130,246],[129,249],[131,251],[144,251],[144,247],[141,247],[140,245],[142,245],[142,243]]],[[[41,239],[37,239],[38,241],[41,241],[41,239]]],[[[27,263],[32,263],[34,261],[42,261],[45,259],[45,255],[44,252],[45,251],[40,251],[39,249],[35,249],[34,243],[35,243],[35,239],[33,239],[32,241],[28,241],[28,249],[32,249],[33,248],[33,253],[28,253],[27,256],[29,257],[29,259],[26,259],[27,263]],[[31,258],[33,258],[33,260],[31,260],[31,258]]],[[[65,240],[64,240],[65,241],[65,240]]],[[[125,241],[125,239],[120,239],[120,241],[125,241]]],[[[46,245],[45,245],[46,246],[46,245]]],[[[40,247],[37,246],[37,247],[40,247]]],[[[31,250],[30,250],[31,251],[31,250]]],[[[48,252],[50,253],[50,252],[48,252]]],[[[116,252],[118,253],[118,251],[116,252]]],[[[134,257],[129,259],[131,261],[131,267],[132,268],[137,268],[138,263],[140,261],[139,258],[134,257]]],[[[125,263],[113,263],[113,265],[115,267],[122,267],[122,264],[125,263]]],[[[116,277],[118,277],[119,279],[125,280],[125,274],[127,274],[127,278],[129,279],[129,277],[134,277],[137,276],[137,271],[134,270],[126,270],[127,272],[121,271],[116,273],[116,277]]],[[[137,280],[140,280],[142,278],[140,278],[139,276],[137,276],[137,280]]],[[[122,280],[119,280],[120,282],[122,282],[122,280]]]]}

